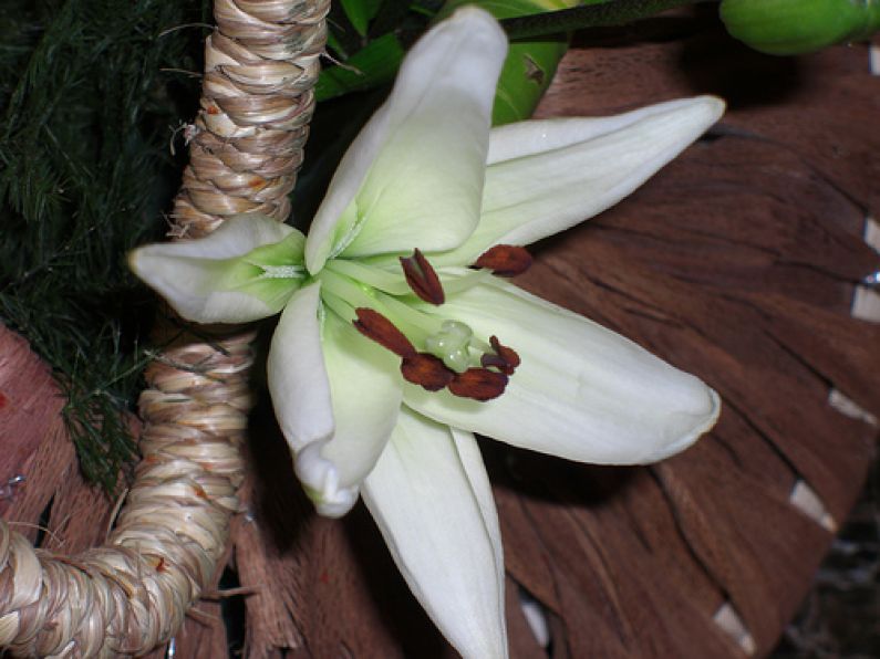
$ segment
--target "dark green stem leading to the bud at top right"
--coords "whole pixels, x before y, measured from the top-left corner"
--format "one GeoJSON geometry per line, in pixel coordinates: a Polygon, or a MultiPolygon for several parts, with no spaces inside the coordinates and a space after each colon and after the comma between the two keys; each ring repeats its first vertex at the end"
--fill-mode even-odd
{"type": "Polygon", "coordinates": [[[623,25],[675,7],[713,1],[716,0],[609,0],[601,4],[504,19],[500,23],[511,40],[529,39],[583,28],[623,25]]]}

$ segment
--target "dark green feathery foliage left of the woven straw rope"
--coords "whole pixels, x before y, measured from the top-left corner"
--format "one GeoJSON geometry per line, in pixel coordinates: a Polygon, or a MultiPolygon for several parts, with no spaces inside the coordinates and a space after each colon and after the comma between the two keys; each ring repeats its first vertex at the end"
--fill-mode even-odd
{"type": "Polygon", "coordinates": [[[125,253],[158,238],[195,113],[200,0],[0,3],[0,321],[52,365],[83,471],[112,489],[135,454],[153,296],[125,253]],[[190,24],[189,27],[184,27],[190,24]],[[176,29],[179,28],[179,29],[176,29]]]}

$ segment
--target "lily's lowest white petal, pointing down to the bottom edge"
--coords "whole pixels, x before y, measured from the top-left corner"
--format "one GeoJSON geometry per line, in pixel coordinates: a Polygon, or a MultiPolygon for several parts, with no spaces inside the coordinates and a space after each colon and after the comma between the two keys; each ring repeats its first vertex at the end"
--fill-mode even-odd
{"type": "Polygon", "coordinates": [[[404,409],[363,498],[449,642],[466,659],[507,657],[498,517],[473,435],[404,409]]]}

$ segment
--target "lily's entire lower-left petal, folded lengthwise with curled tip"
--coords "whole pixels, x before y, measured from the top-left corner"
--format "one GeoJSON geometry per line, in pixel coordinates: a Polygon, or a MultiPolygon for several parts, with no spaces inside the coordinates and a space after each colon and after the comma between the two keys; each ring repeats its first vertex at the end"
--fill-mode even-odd
{"type": "Polygon", "coordinates": [[[281,316],[268,379],[297,475],[318,512],[337,517],[358,501],[401,408],[397,358],[333,312],[320,314],[320,284],[281,316]]]}

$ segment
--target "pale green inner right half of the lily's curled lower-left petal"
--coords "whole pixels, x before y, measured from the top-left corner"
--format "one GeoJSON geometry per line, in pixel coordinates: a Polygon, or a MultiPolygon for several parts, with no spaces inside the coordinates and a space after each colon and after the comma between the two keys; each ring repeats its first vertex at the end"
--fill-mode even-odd
{"type": "MultiPolygon", "coordinates": [[[[338,488],[356,492],[397,422],[400,358],[332,313],[322,341],[335,429],[320,457],[335,470],[338,488]]],[[[324,513],[321,505],[319,512],[324,513]]],[[[342,512],[333,511],[333,516],[342,512]]]]}

